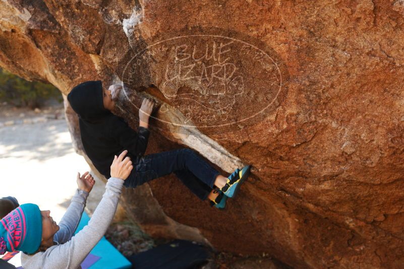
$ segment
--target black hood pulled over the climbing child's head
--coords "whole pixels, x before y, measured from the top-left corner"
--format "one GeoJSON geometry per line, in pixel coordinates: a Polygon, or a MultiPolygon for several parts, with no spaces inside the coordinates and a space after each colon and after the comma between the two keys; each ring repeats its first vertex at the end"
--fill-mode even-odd
{"type": "Polygon", "coordinates": [[[104,108],[101,81],[83,82],[75,86],[67,97],[73,110],[81,119],[96,120],[110,113],[104,108]]]}

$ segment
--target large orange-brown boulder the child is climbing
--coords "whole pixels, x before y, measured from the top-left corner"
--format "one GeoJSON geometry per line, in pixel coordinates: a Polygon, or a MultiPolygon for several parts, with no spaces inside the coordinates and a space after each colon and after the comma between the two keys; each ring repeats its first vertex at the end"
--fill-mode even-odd
{"type": "Polygon", "coordinates": [[[224,212],[174,176],[126,190],[147,232],[296,268],[402,267],[403,1],[3,0],[0,15],[11,72],[63,94],[123,81],[135,128],[140,98],[158,101],[148,154],[253,165],[224,212]]]}

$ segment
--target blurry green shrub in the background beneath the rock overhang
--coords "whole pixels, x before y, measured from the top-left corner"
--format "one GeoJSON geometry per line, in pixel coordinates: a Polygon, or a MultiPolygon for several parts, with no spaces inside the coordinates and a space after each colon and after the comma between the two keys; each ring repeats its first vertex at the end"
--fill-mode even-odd
{"type": "Polygon", "coordinates": [[[0,101],[17,107],[28,106],[31,109],[41,107],[44,101],[54,98],[62,102],[62,95],[51,84],[26,81],[6,70],[0,69],[0,101]]]}

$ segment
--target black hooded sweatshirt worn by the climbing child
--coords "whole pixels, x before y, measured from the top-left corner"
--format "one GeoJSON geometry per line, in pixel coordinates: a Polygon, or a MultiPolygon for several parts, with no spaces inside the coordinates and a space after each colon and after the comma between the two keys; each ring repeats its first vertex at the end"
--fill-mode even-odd
{"type": "Polygon", "coordinates": [[[110,177],[114,155],[119,156],[128,150],[127,156],[133,163],[144,155],[150,131],[139,126],[136,132],[123,118],[104,108],[101,81],[77,85],[68,94],[68,100],[79,115],[84,150],[95,168],[106,178],[110,177]]]}

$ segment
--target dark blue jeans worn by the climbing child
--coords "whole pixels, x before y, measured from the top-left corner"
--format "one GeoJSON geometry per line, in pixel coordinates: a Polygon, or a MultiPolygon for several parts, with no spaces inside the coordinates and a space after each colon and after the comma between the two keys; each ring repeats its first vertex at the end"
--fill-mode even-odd
{"type": "Polygon", "coordinates": [[[194,150],[179,149],[145,155],[136,160],[124,186],[135,188],[172,172],[202,200],[213,189],[213,183],[220,174],[194,150]]]}

